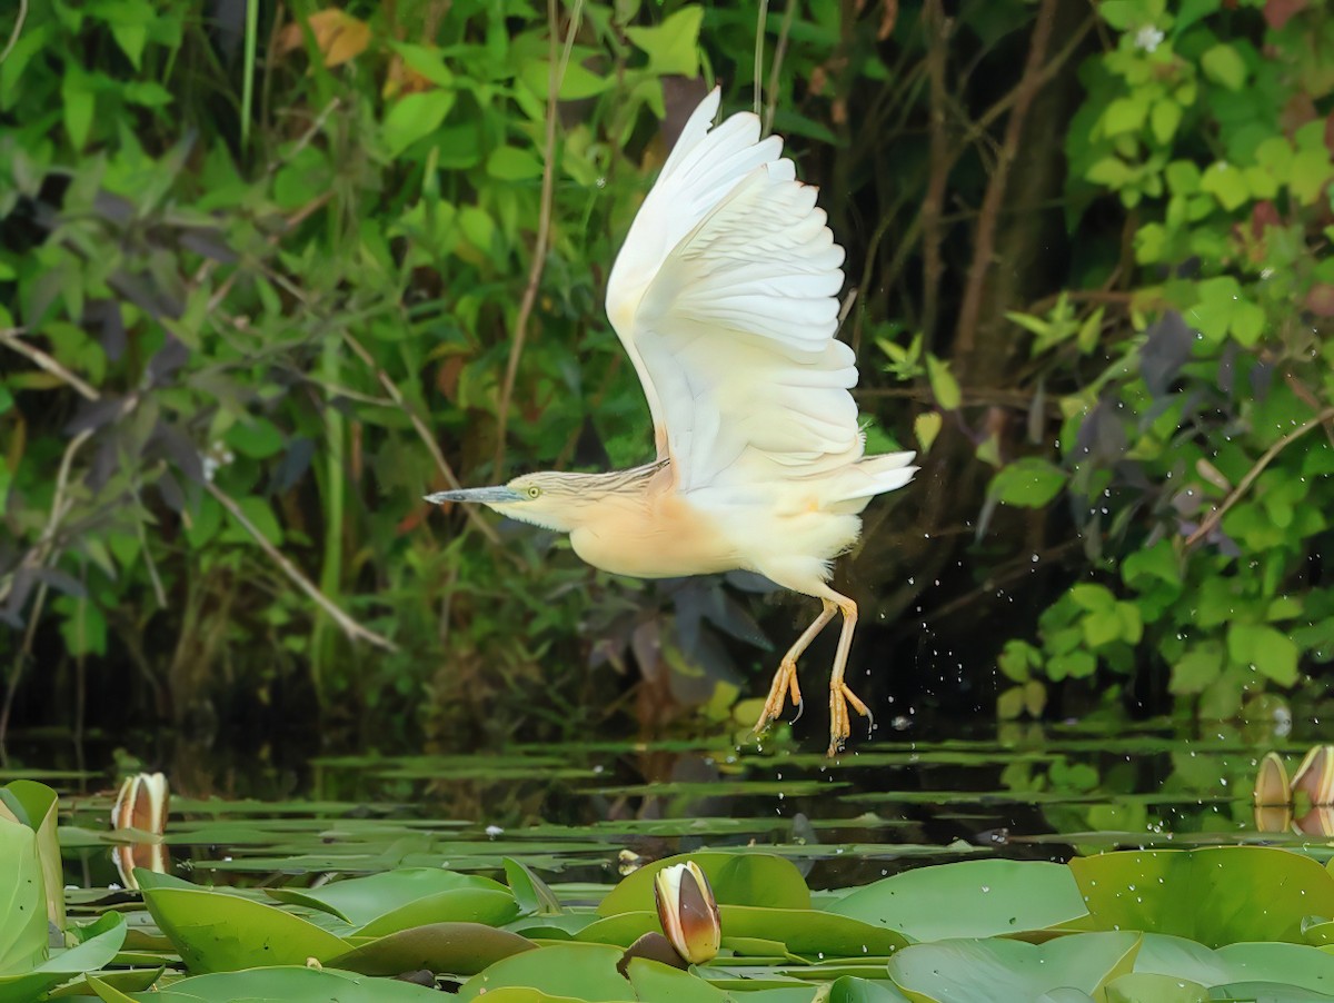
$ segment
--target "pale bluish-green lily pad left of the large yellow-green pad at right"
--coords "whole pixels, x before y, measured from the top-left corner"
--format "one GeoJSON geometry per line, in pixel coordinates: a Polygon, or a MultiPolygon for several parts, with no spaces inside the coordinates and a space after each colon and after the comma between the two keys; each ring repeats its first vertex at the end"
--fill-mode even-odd
{"type": "Polygon", "coordinates": [[[1065,864],[963,860],[884,878],[844,895],[828,911],[912,940],[936,940],[1046,930],[1087,908],[1065,864]]]}

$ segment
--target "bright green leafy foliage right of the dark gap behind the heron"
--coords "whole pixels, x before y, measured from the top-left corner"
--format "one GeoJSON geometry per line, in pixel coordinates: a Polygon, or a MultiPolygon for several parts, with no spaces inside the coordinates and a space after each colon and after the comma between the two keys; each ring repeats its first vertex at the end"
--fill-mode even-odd
{"type": "Polygon", "coordinates": [[[1182,714],[1230,718],[1267,688],[1314,688],[1334,656],[1334,163],[1317,112],[1334,19],[1275,7],[1098,7],[1111,45],[1081,71],[1067,220],[1117,196],[1137,271],[1117,312],[1071,291],[1010,315],[1046,387],[1098,372],[1059,397],[1050,459],[991,481],[988,497],[1042,507],[1067,479],[1058,504],[1090,558],[1039,643],[1006,646],[1002,716],[1039,714],[1065,680],[1119,700],[1107,683],[1143,691],[1149,668],[1182,714]]]}

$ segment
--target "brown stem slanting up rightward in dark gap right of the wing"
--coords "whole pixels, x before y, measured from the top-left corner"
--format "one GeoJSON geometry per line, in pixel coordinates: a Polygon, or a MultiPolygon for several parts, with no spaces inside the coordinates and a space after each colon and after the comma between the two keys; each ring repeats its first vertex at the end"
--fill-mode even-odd
{"type": "Polygon", "coordinates": [[[1051,39],[1055,17],[1057,0],[1042,0],[1037,23],[1033,27],[1033,40],[1029,43],[1029,59],[1025,63],[1023,75],[1019,77],[1019,85],[1015,88],[1014,108],[1006,120],[1000,157],[982,199],[972,264],[968,268],[963,301],[959,307],[959,323],[955,328],[954,353],[958,359],[967,359],[976,341],[978,319],[982,315],[982,293],[991,267],[995,264],[996,219],[1006,189],[1010,187],[1010,168],[1019,155],[1019,141],[1023,139],[1023,125],[1029,117],[1029,108],[1043,83],[1043,60],[1047,55],[1047,43],[1051,39]]]}

